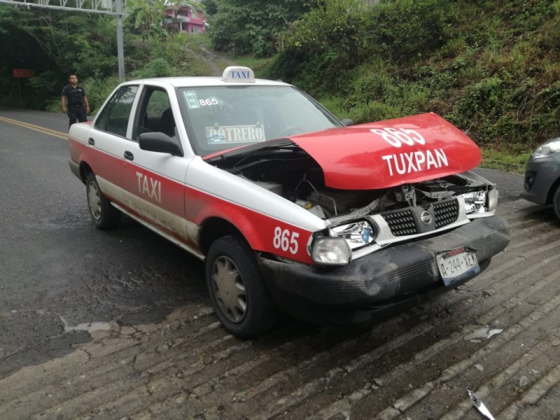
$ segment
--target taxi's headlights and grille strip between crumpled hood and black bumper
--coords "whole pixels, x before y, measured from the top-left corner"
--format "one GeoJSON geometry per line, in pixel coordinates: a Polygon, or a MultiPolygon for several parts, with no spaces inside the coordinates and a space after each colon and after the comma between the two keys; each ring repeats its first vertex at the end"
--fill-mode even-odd
{"type": "MultiPolygon", "coordinates": [[[[307,205],[323,209],[318,204],[321,200],[314,198],[311,195],[307,205]]],[[[327,235],[316,233],[311,256],[318,264],[347,264],[392,244],[438,235],[474,218],[493,216],[497,202],[498,190],[472,172],[395,186],[365,207],[327,218],[327,235]],[[325,236],[329,239],[323,239],[325,236]],[[330,251],[317,245],[323,241],[330,241],[330,251]]]]}

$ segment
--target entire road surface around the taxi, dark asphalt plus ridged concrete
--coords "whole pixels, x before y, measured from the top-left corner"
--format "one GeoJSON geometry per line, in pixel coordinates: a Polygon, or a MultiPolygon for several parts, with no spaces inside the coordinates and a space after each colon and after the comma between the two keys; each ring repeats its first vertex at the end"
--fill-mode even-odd
{"type": "Polygon", "coordinates": [[[482,419],[467,387],[496,419],[560,418],[560,225],[521,176],[477,169],[512,241],[467,285],[242,341],[202,262],[130,220],[92,227],[66,124],[0,109],[0,419],[482,419]]]}

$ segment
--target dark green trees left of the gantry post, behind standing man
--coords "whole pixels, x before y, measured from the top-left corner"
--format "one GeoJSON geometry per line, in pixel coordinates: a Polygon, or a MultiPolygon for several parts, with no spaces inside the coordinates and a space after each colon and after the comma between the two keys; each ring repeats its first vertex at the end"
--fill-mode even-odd
{"type": "MultiPolygon", "coordinates": [[[[12,69],[33,69],[35,77],[0,81],[1,104],[13,106],[21,90],[22,106],[44,109],[60,96],[70,72],[80,80],[105,78],[117,68],[116,27],[112,17],[67,10],[31,10],[0,6],[0,67],[3,75],[12,69]],[[93,66],[92,63],[95,63],[93,66]],[[26,92],[26,90],[32,92],[26,92]]],[[[59,99],[58,99],[59,100],[59,99]]]]}

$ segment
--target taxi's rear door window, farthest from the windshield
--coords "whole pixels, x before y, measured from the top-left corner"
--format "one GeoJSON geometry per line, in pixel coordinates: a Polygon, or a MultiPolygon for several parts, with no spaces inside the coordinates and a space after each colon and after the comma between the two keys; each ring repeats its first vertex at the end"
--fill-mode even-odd
{"type": "Polygon", "coordinates": [[[95,129],[125,137],[130,110],[137,92],[138,86],[120,87],[99,113],[95,120],[95,129]]]}

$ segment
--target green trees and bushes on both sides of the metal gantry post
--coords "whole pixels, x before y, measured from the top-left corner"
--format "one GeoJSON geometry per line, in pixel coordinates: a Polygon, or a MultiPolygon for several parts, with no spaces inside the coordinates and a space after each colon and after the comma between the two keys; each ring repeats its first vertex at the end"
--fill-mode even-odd
{"type": "MultiPolygon", "coordinates": [[[[123,22],[127,78],[211,71],[189,48],[190,43],[200,48],[200,37],[160,25],[167,22],[166,8],[165,0],[130,1],[123,22]]],[[[116,34],[116,20],[109,15],[0,5],[0,106],[59,112],[62,87],[76,72],[95,112],[119,83],[116,34]],[[36,77],[16,80],[13,69],[34,69],[36,77]]]]}

